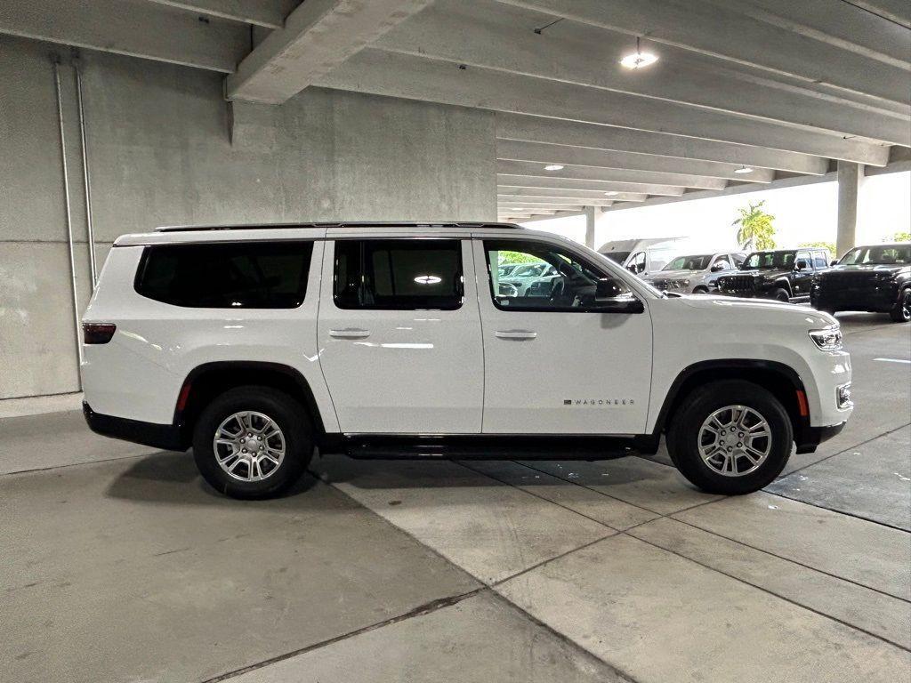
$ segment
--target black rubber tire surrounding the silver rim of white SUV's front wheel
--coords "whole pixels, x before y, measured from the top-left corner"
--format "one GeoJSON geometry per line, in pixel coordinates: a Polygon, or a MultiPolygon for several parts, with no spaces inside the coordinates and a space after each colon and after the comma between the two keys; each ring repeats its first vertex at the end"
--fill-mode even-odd
{"type": "MultiPolygon", "coordinates": [[[[734,434],[736,436],[736,434],[734,434]]],[[[710,494],[750,494],[771,484],[791,456],[793,425],[781,402],[771,392],[752,382],[724,380],[704,384],[686,397],[674,414],[668,430],[670,458],[681,474],[710,494]],[[762,415],[769,425],[769,453],[759,466],[731,476],[720,474],[702,460],[702,424],[715,411],[729,405],[743,405],[762,415]]],[[[739,461],[743,464],[743,460],[739,461]]]]}

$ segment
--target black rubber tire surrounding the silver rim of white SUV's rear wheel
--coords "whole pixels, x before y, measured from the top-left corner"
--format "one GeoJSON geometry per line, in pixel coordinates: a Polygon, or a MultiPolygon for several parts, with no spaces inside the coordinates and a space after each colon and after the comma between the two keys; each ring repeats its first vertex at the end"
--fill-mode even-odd
{"type": "MultiPolygon", "coordinates": [[[[254,416],[254,420],[260,418],[254,416]]],[[[240,425],[237,427],[240,432],[240,425]]],[[[251,433],[255,434],[255,431],[251,433]]],[[[287,393],[271,387],[241,386],[220,394],[202,411],[193,430],[193,458],[200,474],[212,488],[232,498],[270,498],[281,494],[301,477],[312,455],[312,428],[306,409],[287,393]],[[264,472],[254,481],[242,480],[251,474],[247,464],[238,466],[237,476],[226,472],[219,464],[213,443],[221,423],[234,413],[248,411],[271,419],[281,431],[284,442],[284,455],[279,464],[263,461],[264,472]]],[[[257,466],[253,465],[254,474],[260,472],[256,470],[257,466]]]]}

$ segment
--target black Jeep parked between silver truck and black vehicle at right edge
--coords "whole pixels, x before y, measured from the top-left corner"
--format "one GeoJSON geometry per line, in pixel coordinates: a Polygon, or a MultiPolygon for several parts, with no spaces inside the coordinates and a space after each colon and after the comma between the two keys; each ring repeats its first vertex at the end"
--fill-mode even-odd
{"type": "Polygon", "coordinates": [[[753,251],[738,272],[718,279],[718,291],[734,297],[809,301],[814,276],[828,268],[829,252],[824,249],[753,251]]]}

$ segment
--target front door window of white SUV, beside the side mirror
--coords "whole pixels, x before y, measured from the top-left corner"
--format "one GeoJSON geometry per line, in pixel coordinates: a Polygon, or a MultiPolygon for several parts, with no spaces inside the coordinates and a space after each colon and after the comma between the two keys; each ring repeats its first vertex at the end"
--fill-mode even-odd
{"type": "Polygon", "coordinates": [[[528,240],[485,240],[484,250],[494,304],[503,311],[599,311],[596,291],[604,280],[612,283],[612,295],[633,299],[630,289],[599,268],[561,247],[528,240]],[[500,280],[499,266],[509,262],[537,260],[546,264],[530,282],[500,280]]]}

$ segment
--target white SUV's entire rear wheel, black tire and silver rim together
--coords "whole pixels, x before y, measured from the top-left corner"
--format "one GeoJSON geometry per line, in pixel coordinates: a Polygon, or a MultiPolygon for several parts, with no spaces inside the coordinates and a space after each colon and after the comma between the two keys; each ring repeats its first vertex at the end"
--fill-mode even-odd
{"type": "Polygon", "coordinates": [[[200,414],[193,457],[200,474],[234,498],[267,498],[296,482],[313,452],[303,406],[271,387],[220,394],[200,414]]]}

